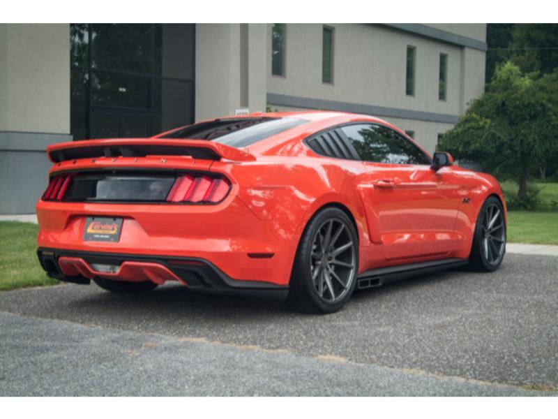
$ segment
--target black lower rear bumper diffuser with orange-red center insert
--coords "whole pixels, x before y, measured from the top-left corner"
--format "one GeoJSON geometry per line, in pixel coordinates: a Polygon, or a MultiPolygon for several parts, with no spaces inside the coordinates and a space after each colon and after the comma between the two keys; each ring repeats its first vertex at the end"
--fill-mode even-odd
{"type": "Polygon", "coordinates": [[[287,297],[288,286],[262,281],[239,281],[202,258],[180,256],[138,256],[121,253],[98,253],[39,248],[40,265],[61,281],[89,284],[94,277],[120,281],[151,280],[156,284],[179,281],[193,291],[209,293],[241,293],[264,297],[287,297]],[[96,272],[92,264],[116,265],[112,273],[96,272]]]}

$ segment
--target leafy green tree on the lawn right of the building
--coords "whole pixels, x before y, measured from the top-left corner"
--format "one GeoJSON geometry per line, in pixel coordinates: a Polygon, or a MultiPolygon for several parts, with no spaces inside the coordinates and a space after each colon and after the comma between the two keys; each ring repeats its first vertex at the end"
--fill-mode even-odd
{"type": "Polygon", "coordinates": [[[444,134],[438,149],[515,179],[519,198],[527,198],[529,173],[558,156],[557,82],[558,73],[534,80],[510,61],[498,66],[485,94],[444,134]]]}

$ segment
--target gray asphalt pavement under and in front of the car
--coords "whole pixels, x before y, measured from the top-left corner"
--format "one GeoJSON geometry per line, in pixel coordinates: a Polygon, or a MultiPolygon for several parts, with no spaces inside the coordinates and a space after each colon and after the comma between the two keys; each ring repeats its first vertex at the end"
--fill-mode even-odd
{"type": "Polygon", "coordinates": [[[558,395],[557,270],[508,254],[327,316],[173,285],[0,293],[0,395],[558,395]]]}

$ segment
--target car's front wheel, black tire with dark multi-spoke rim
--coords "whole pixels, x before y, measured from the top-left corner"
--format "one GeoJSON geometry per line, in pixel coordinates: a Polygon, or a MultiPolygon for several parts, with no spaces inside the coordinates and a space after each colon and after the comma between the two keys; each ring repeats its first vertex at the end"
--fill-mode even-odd
{"type": "Polygon", "coordinates": [[[504,208],[495,196],[489,196],[476,219],[475,233],[469,266],[478,272],[494,272],[502,264],[506,253],[506,222],[504,219],[504,208]],[[491,212],[492,209],[492,212],[491,212]],[[496,213],[499,211],[499,214],[496,213]],[[497,217],[495,224],[487,228],[487,220],[490,225],[490,217],[497,217]],[[499,228],[495,230],[496,227],[499,228]]]}

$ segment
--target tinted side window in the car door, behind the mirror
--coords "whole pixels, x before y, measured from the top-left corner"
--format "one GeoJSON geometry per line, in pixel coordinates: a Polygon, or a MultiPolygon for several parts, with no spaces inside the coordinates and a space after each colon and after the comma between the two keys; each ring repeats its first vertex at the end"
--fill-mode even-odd
{"type": "Polygon", "coordinates": [[[423,152],[412,142],[384,126],[356,124],[343,126],[341,129],[363,161],[430,164],[423,152]]]}

